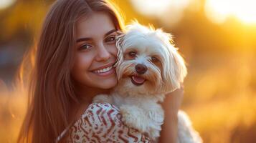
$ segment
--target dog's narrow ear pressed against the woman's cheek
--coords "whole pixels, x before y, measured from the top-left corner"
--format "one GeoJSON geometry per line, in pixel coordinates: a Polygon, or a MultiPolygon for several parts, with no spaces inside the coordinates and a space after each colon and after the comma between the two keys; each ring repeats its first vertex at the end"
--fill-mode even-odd
{"type": "Polygon", "coordinates": [[[120,64],[122,64],[123,62],[123,39],[124,39],[124,36],[125,34],[119,34],[117,37],[116,37],[116,48],[118,49],[118,59],[117,61],[115,62],[115,71],[116,71],[116,74],[117,74],[117,77],[118,77],[118,80],[120,79],[120,73],[118,71],[118,69],[120,69],[120,64]]]}

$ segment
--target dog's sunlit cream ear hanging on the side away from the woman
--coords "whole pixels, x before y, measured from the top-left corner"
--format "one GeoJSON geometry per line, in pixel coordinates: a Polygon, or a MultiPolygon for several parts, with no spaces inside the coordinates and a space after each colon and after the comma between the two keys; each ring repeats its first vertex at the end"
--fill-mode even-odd
{"type": "Polygon", "coordinates": [[[163,31],[161,31],[160,34],[161,41],[163,41],[166,48],[165,61],[162,63],[163,91],[172,92],[181,87],[181,83],[184,81],[187,74],[186,65],[178,49],[171,44],[171,34],[167,34],[163,31]]]}

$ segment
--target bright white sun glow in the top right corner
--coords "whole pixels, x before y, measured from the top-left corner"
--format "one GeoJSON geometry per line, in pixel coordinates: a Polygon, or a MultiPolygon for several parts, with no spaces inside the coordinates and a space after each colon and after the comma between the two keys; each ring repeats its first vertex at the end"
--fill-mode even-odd
{"type": "Polygon", "coordinates": [[[255,0],[207,0],[204,6],[207,17],[222,24],[234,16],[245,24],[256,24],[255,0]]]}

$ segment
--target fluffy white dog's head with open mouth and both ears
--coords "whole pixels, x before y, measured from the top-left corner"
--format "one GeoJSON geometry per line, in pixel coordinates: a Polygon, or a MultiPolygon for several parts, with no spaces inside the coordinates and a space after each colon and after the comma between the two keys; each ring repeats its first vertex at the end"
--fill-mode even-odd
{"type": "Polygon", "coordinates": [[[171,45],[171,35],[140,24],[119,36],[118,88],[136,94],[160,94],[180,87],[186,76],[184,60],[171,45]]]}

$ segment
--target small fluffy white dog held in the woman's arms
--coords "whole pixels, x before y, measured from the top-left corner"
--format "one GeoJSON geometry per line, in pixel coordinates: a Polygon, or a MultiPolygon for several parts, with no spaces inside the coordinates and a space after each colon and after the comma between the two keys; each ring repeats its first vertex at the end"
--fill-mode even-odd
{"type": "MultiPolygon", "coordinates": [[[[108,102],[120,109],[128,127],[160,136],[166,93],[181,87],[186,77],[184,59],[171,44],[171,34],[134,22],[118,36],[118,86],[110,95],[100,94],[93,102],[108,102]]],[[[202,142],[186,114],[179,112],[179,142],[202,142]]],[[[168,121],[166,121],[168,122],[168,121]]]]}

